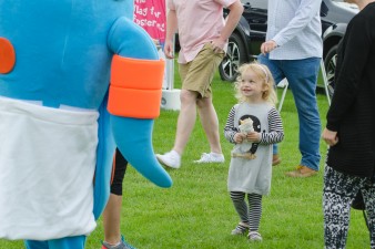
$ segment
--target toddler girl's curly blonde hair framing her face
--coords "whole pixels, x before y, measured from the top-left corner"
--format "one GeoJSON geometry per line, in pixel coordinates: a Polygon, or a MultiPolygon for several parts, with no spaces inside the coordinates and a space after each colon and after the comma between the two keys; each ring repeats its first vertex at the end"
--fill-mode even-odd
{"type": "Polygon", "coordinates": [[[275,91],[273,76],[266,65],[260,64],[256,61],[242,64],[239,68],[239,76],[234,83],[235,97],[239,100],[239,102],[242,103],[246,101],[246,98],[241,94],[240,85],[242,82],[242,75],[249,70],[253,71],[256,76],[263,80],[263,87],[265,91],[263,92],[262,98],[272,105],[276,105],[277,94],[275,91]]]}

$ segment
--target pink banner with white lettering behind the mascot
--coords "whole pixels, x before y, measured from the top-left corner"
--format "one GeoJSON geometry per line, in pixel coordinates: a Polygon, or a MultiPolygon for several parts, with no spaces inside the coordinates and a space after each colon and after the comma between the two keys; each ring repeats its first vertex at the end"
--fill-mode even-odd
{"type": "Polygon", "coordinates": [[[134,22],[161,44],[165,40],[165,0],[134,0],[134,22]]]}

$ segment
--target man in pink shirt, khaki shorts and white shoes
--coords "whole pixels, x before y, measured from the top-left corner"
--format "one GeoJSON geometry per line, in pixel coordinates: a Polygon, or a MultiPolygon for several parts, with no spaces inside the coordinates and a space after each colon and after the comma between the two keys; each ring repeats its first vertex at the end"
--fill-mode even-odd
{"type": "Polygon", "coordinates": [[[194,128],[197,110],[211,152],[203,153],[195,163],[224,163],[211,82],[243,7],[240,0],[168,0],[168,8],[164,53],[168,59],[173,59],[173,37],[179,30],[181,111],[172,151],[156,157],[169,167],[181,166],[181,155],[194,128]],[[226,21],[223,19],[223,8],[230,9],[226,21]]]}

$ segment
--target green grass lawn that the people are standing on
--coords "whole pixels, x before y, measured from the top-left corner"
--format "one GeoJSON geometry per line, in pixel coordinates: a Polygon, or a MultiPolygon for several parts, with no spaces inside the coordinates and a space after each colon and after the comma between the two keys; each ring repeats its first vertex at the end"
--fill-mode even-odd
{"type": "MultiPolygon", "coordinates": [[[[175,79],[174,85],[179,89],[179,76],[175,79]]],[[[201,153],[210,149],[197,120],[182,158],[182,167],[168,169],[174,181],[172,188],[155,187],[129,167],[123,183],[121,229],[126,240],[138,249],[322,249],[322,188],[326,145],[321,143],[322,170],[317,176],[304,179],[284,176],[284,173],[294,169],[301,159],[297,149],[297,115],[290,91],[281,113],[285,132],[285,138],[280,144],[283,162],[273,167],[272,191],[263,198],[260,227],[263,242],[250,243],[245,237],[230,235],[239,218],[226,190],[230,152],[233,145],[225,141],[222,131],[229,111],[236,101],[233,97],[233,85],[222,82],[219,75],[214,79],[213,92],[226,163],[192,163],[201,153]]],[[[328,105],[324,94],[318,95],[318,105],[324,125],[328,105]]],[[[155,153],[164,153],[173,146],[178,115],[179,112],[162,111],[155,120],[155,153]]],[[[369,248],[362,212],[353,210],[351,219],[347,248],[369,248]]],[[[98,228],[88,238],[87,248],[100,249],[101,239],[103,227],[100,219],[98,228]]],[[[0,249],[21,248],[21,241],[0,240],[0,249]]]]}

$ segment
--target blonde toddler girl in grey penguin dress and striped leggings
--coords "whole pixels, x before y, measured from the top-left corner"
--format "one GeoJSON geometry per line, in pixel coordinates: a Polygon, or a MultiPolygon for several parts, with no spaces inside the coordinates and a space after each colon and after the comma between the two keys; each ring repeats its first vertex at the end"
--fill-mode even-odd
{"type": "Polygon", "coordinates": [[[256,62],[239,69],[235,104],[227,116],[225,138],[234,144],[227,188],[240,222],[232,235],[249,230],[251,241],[262,241],[259,226],[262,196],[267,195],[272,177],[272,144],[284,137],[277,100],[270,70],[256,62]],[[249,205],[245,201],[247,196],[249,205]]]}

